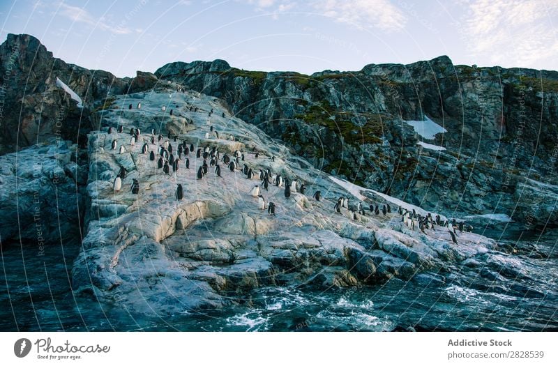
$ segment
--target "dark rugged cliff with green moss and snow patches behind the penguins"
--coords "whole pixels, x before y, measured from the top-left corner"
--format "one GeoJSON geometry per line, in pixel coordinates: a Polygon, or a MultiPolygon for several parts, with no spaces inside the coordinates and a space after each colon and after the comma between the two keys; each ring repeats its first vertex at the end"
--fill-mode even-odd
{"type": "Polygon", "coordinates": [[[236,116],[327,173],[430,209],[558,222],[556,211],[533,208],[549,190],[539,185],[518,199],[529,179],[558,181],[555,71],[454,66],[447,56],[312,75],[226,66],[169,63],[155,74],[225,99],[236,116]],[[429,141],[403,122],[426,117],[447,132],[429,141]]]}

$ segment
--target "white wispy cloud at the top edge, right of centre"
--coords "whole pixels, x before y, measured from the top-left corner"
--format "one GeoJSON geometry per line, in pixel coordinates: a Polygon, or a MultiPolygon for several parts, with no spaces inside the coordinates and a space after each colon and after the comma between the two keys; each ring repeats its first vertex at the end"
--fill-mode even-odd
{"type": "Polygon", "coordinates": [[[312,6],[326,17],[359,29],[401,31],[407,23],[407,17],[388,0],[325,0],[314,1],[312,6]]]}

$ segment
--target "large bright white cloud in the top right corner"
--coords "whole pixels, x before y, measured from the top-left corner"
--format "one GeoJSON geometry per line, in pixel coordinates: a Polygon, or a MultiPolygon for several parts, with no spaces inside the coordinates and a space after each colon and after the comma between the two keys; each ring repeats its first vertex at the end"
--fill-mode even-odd
{"type": "Polygon", "coordinates": [[[465,42],[492,64],[537,67],[558,56],[557,8],[543,0],[474,0],[465,3],[465,42]],[[554,18],[554,19],[553,19],[554,18]]]}

